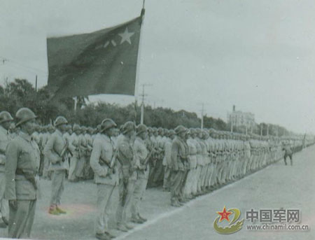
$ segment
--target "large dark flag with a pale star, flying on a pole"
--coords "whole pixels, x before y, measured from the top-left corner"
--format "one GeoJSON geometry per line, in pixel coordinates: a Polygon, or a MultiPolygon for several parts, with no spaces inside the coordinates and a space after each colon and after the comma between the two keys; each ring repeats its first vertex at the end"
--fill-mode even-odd
{"type": "Polygon", "coordinates": [[[48,89],[54,97],[134,95],[141,21],[48,38],[48,89]]]}

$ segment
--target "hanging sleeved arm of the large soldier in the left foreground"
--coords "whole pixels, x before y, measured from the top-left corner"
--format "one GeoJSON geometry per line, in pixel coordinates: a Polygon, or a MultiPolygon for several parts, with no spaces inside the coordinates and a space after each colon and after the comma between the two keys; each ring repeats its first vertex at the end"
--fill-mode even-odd
{"type": "Polygon", "coordinates": [[[15,171],[18,166],[18,157],[19,157],[20,149],[18,144],[15,141],[8,144],[8,148],[6,150],[6,190],[5,196],[8,200],[15,200],[15,171]]]}

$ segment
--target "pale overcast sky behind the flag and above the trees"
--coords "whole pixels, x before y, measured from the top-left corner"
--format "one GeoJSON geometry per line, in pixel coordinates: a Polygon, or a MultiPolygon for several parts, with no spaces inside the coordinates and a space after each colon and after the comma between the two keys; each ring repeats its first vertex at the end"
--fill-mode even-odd
{"type": "MultiPolygon", "coordinates": [[[[0,84],[47,84],[46,38],[97,31],[139,16],[142,0],[0,0],[0,84]],[[3,64],[3,59],[7,61],[3,64]]],[[[315,132],[315,1],[146,0],[137,96],[146,104],[315,132]]],[[[90,101],[129,104],[134,97],[90,101]]]]}

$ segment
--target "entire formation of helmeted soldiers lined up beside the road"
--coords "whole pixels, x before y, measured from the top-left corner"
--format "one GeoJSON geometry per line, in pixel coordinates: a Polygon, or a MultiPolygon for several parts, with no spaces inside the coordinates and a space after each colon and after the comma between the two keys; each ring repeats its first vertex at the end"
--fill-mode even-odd
{"type": "MultiPolygon", "coordinates": [[[[15,121],[15,129],[20,130],[15,131],[13,141],[7,137],[8,149],[3,165],[7,162],[5,192],[10,206],[9,237],[29,236],[31,232],[39,188],[38,172],[43,178],[52,178],[49,213],[55,215],[66,213],[59,206],[66,176],[69,181],[94,178],[99,209],[96,237],[110,239],[113,236],[107,226],[108,209],[115,188],[120,193],[117,226],[118,230],[125,232],[132,228],[127,224],[129,209],[132,222],[146,221],[139,214],[139,204],[147,184],[162,184],[164,190],[171,191],[172,206],[181,206],[189,199],[236,181],[283,157],[283,142],[276,138],[250,137],[214,129],[186,129],[183,126],[168,130],[139,125],[136,129],[133,122],[126,122],[118,130],[110,119],[103,120],[97,129],[79,125],[71,127],[64,117],[58,117],[54,126],[38,127],[35,118],[31,110],[21,108],[15,121]],[[25,169],[24,163],[20,167],[16,164],[21,161],[19,144],[26,148],[22,153],[29,153],[25,156],[29,160],[25,169]],[[17,201],[25,200],[25,190],[18,184],[22,182],[28,185],[27,199],[33,201],[27,206],[17,201]],[[18,195],[20,191],[21,195],[18,195]],[[28,214],[20,216],[18,206],[20,211],[28,214]]],[[[9,113],[0,113],[3,129],[10,129],[8,123],[12,121],[9,113]]],[[[284,140],[286,145],[296,149],[302,146],[301,139],[284,140]]],[[[2,208],[1,214],[6,215],[2,208]]]]}

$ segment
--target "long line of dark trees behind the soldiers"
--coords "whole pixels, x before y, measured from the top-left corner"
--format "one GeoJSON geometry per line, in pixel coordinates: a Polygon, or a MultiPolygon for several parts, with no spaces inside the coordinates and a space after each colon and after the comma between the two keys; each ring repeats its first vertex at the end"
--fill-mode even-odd
{"type": "MultiPolygon", "coordinates": [[[[96,127],[104,118],[113,119],[118,125],[123,125],[126,121],[140,122],[141,108],[137,104],[120,106],[109,104],[104,101],[87,104],[88,97],[78,97],[77,110],[74,111],[74,100],[71,97],[51,100],[52,94],[47,86],[41,87],[37,91],[26,79],[16,78],[13,82],[0,85],[0,110],[15,114],[21,107],[28,107],[38,115],[38,121],[47,125],[58,115],[64,115],[71,123],[96,127]]],[[[171,108],[144,107],[144,123],[150,127],[163,127],[174,129],[178,125],[185,127],[200,127],[201,119],[196,113],[188,111],[174,111],[171,108]]],[[[262,135],[267,134],[267,124],[262,123],[262,135]]],[[[221,118],[204,116],[204,127],[217,130],[229,131],[228,125],[221,118]]],[[[269,125],[269,134],[276,136],[288,135],[287,129],[281,126],[269,125]]],[[[235,127],[235,132],[244,133],[244,127],[235,127]]],[[[260,134],[260,125],[251,129],[251,132],[260,134]]]]}

